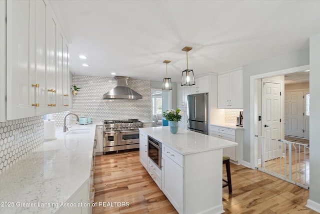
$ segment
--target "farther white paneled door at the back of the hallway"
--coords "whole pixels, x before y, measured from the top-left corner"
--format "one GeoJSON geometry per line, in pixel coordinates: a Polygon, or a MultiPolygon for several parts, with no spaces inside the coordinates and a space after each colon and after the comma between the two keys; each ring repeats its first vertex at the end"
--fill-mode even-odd
{"type": "Polygon", "coordinates": [[[303,91],[284,94],[284,134],[303,137],[303,91]]]}

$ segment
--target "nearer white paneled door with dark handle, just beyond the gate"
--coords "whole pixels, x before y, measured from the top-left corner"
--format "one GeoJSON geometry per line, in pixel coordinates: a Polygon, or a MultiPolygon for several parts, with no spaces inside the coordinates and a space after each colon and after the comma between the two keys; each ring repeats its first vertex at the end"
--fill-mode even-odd
{"type": "MultiPolygon", "coordinates": [[[[280,84],[263,82],[262,84],[262,136],[280,139],[280,84]]],[[[273,142],[273,141],[272,141],[273,142]]],[[[265,143],[265,160],[281,156],[277,143],[265,143]]]]}

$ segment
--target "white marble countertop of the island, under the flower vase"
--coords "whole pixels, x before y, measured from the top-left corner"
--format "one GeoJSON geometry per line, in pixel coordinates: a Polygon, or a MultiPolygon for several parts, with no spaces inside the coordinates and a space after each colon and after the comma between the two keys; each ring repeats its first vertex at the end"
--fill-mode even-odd
{"type": "Polygon", "coordinates": [[[221,138],[216,138],[180,128],[176,134],[172,134],[169,130],[169,126],[139,129],[182,155],[237,145],[237,143],[228,140],[223,140],[221,138]]]}

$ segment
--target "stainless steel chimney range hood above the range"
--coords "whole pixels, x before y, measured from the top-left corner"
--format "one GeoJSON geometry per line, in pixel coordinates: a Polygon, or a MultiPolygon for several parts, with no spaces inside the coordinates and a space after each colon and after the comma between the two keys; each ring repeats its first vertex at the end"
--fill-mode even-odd
{"type": "Polygon", "coordinates": [[[142,99],[142,95],[128,87],[129,77],[115,76],[117,86],[103,94],[103,99],[142,99]]]}

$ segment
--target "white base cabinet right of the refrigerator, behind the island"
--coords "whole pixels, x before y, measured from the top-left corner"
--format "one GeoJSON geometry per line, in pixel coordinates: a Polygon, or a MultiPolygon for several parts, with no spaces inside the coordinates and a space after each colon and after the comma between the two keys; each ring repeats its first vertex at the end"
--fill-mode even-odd
{"type": "Polygon", "coordinates": [[[243,129],[210,125],[209,135],[238,143],[237,146],[224,148],[223,155],[230,157],[231,161],[234,161],[236,164],[242,160],[243,129]]]}

